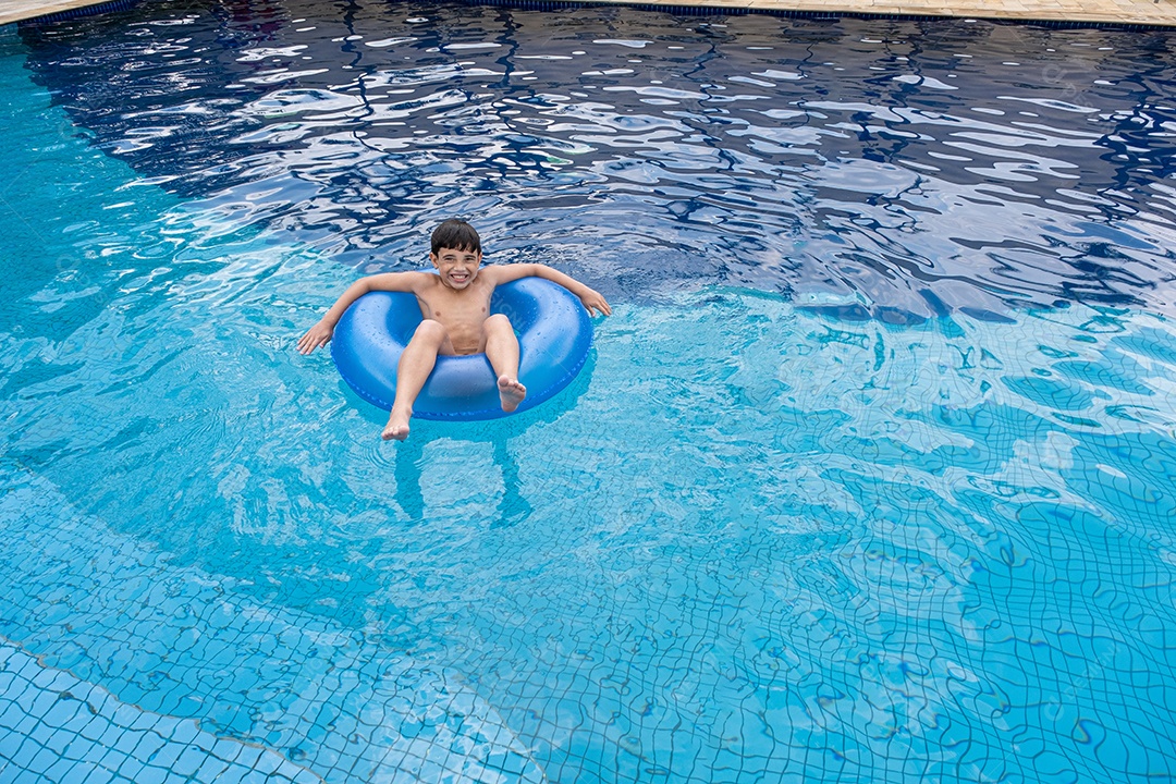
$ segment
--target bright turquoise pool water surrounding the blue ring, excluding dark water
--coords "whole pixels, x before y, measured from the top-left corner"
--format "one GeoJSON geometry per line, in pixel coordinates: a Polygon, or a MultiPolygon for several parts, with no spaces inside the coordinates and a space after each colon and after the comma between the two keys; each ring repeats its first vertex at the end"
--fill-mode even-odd
{"type": "MultiPolygon", "coordinates": [[[[256,207],[294,177],[178,187],[38,56],[0,31],[0,782],[1171,778],[1171,268],[1127,244],[1162,220],[1094,221],[1154,270],[1130,301],[1007,259],[1024,307],[889,320],[680,275],[722,221],[635,277],[604,242],[573,388],[386,444],[294,350],[358,274],[256,207]]],[[[541,253],[505,202],[492,256],[541,253]]]]}

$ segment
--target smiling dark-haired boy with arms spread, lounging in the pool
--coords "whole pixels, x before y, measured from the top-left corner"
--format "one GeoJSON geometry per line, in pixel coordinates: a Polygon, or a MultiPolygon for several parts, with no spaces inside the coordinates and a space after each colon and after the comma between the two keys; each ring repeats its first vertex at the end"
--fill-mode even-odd
{"type": "Polygon", "coordinates": [[[543,264],[505,264],[480,269],[482,241],[474,227],[466,221],[448,220],[433,232],[429,261],[436,267],[439,275],[385,273],[355,281],[330,307],[322,321],[298,341],[301,354],[310,354],[326,346],[343,311],[368,292],[412,292],[416,295],[425,320],[405,347],[396,366],[396,397],[383,429],[385,441],[403,441],[408,437],[413,403],[433,373],[439,354],[486,351],[494,374],[499,377],[502,410],[513,411],[519,408],[519,403],[527,396],[527,388],[519,383],[519,339],[505,315],[490,315],[490,295],[500,283],[520,277],[543,277],[580,297],[589,314],[594,310],[606,316],[613,313],[600,293],[543,264]]]}

